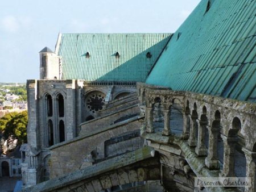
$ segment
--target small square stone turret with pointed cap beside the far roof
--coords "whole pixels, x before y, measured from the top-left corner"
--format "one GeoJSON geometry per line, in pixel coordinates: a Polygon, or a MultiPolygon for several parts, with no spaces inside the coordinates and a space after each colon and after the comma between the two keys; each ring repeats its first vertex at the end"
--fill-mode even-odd
{"type": "Polygon", "coordinates": [[[59,57],[48,47],[39,52],[40,55],[40,79],[41,80],[59,80],[59,57]]]}

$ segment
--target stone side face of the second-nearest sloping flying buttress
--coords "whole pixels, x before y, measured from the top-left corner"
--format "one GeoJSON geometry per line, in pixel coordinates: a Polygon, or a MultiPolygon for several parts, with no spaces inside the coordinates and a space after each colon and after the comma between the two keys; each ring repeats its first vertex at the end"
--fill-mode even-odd
{"type": "Polygon", "coordinates": [[[63,144],[55,145],[51,148],[53,151],[51,158],[55,159],[58,164],[51,165],[51,178],[78,170],[86,155],[96,149],[102,141],[108,140],[114,135],[121,135],[124,131],[134,131],[141,125],[142,123],[137,118],[133,118],[127,122],[106,127],[100,132],[95,131],[92,135],[76,137],[63,144]],[[65,156],[59,155],[60,153],[65,156]],[[59,165],[62,165],[61,169],[59,169],[59,165]]]}

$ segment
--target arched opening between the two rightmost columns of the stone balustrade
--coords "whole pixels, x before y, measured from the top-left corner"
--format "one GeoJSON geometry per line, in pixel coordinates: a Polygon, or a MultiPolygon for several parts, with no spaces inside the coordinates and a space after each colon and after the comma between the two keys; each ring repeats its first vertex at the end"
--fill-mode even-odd
{"type": "Polygon", "coordinates": [[[242,128],[241,120],[235,117],[232,121],[232,129],[229,130],[229,137],[237,137],[236,150],[234,156],[234,172],[236,177],[246,176],[246,158],[242,151],[242,147],[245,147],[245,140],[241,135],[240,131],[242,128]]]}

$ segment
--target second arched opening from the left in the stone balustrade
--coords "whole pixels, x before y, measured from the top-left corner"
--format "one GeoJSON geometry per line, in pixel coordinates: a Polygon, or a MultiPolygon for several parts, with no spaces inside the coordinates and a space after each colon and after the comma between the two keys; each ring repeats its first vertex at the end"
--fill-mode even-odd
{"type": "Polygon", "coordinates": [[[183,107],[180,104],[179,99],[172,101],[170,112],[170,127],[171,132],[175,135],[181,135],[183,132],[183,107]]]}

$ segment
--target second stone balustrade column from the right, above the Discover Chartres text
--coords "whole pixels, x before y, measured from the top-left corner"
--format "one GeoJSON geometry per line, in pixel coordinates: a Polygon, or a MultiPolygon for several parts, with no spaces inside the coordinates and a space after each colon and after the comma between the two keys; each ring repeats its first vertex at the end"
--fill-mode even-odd
{"type": "Polygon", "coordinates": [[[227,137],[225,135],[221,135],[221,137],[224,143],[224,159],[220,177],[236,177],[234,172],[234,158],[238,137],[227,137]]]}

